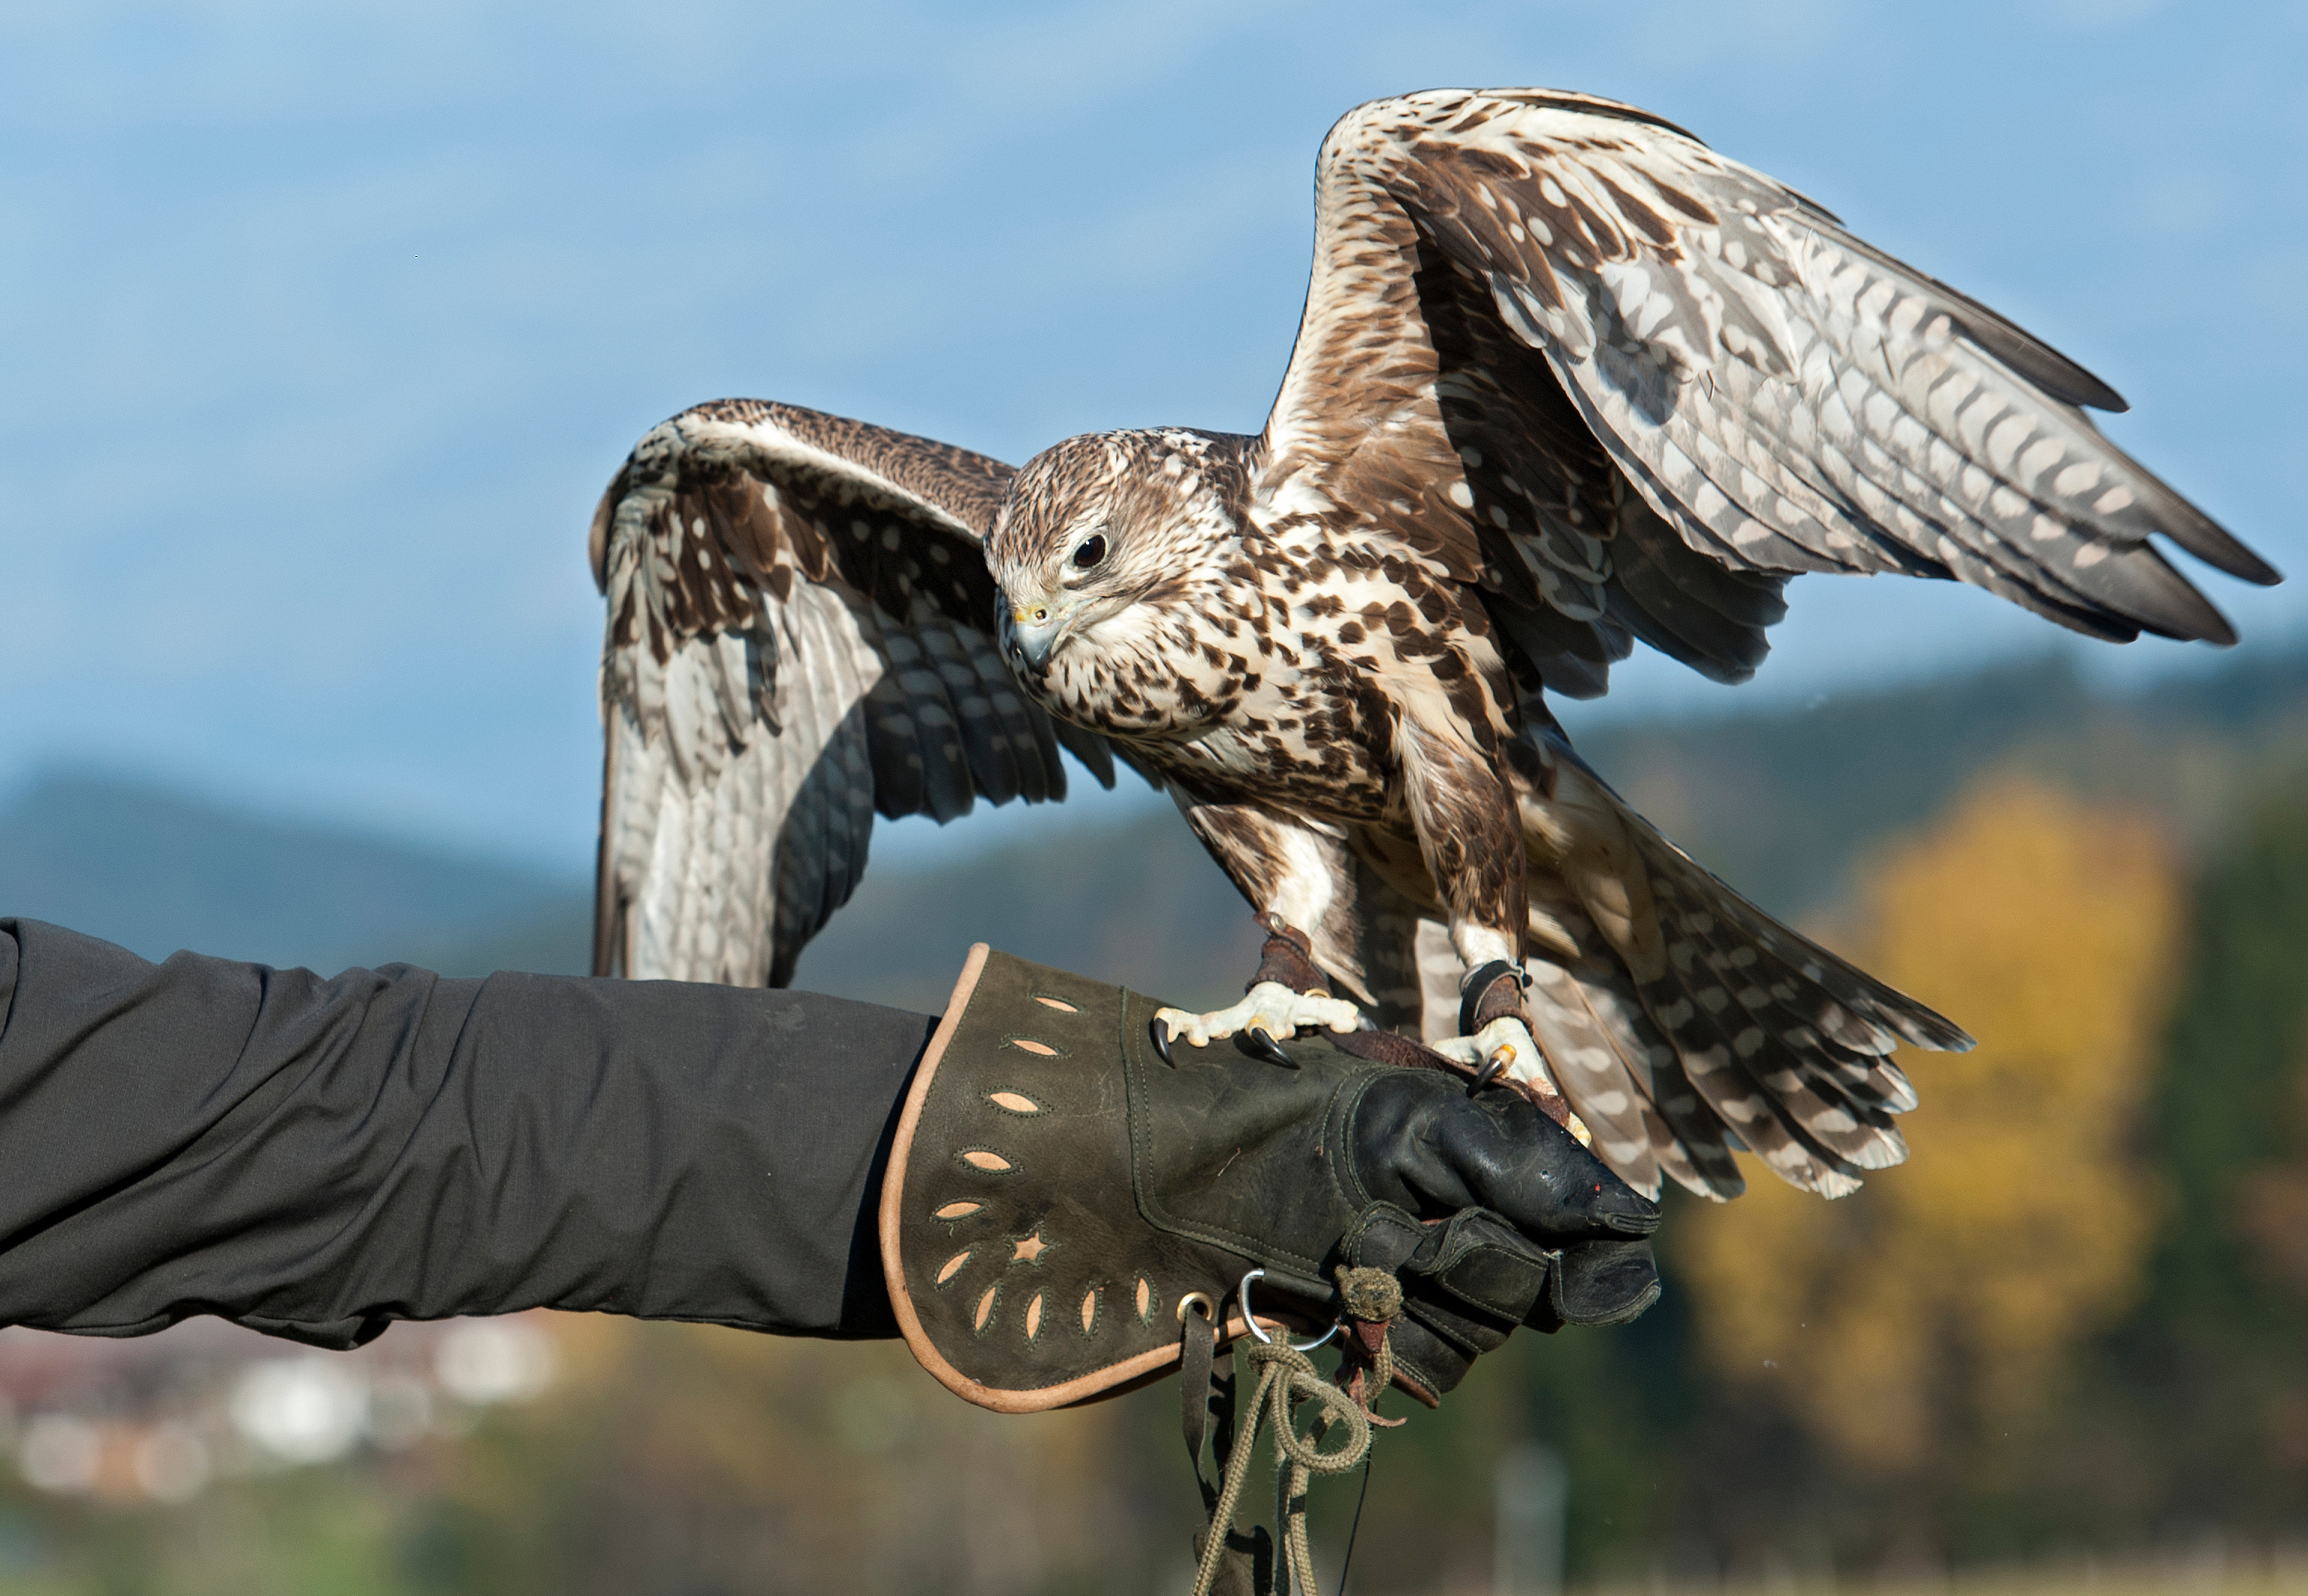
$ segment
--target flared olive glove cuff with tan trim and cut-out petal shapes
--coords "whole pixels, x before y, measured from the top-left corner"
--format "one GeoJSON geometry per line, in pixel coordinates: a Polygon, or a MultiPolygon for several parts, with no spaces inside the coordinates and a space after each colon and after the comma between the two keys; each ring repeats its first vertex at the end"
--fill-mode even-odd
{"type": "MultiPolygon", "coordinates": [[[[1189,1303],[1226,1303],[1249,1268],[1129,1199],[1122,1056],[1145,1045],[1129,1015],[1119,987],[979,943],[914,1070],[882,1271],[914,1358],[979,1407],[1029,1414],[1166,1375],[1189,1303]]],[[[1219,1345],[1242,1333],[1235,1312],[1219,1345]]]]}

